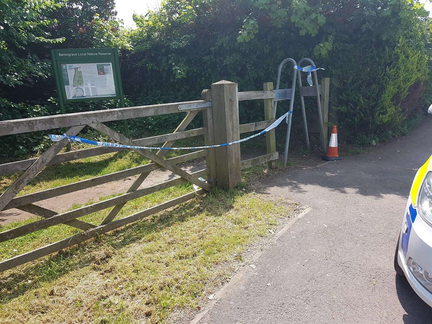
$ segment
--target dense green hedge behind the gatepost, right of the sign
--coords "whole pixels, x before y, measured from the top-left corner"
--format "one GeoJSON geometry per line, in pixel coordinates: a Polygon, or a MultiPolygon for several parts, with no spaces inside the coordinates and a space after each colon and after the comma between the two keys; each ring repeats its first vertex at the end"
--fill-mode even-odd
{"type": "MultiPolygon", "coordinates": [[[[149,104],[195,99],[220,79],[238,82],[240,91],[259,90],[275,80],[283,58],[313,57],[326,68],[320,76],[333,81],[334,117],[346,139],[372,143],[418,115],[403,100],[419,99],[429,78],[427,16],[410,0],[168,1],[135,17],[134,52],[124,65],[134,67],[127,75],[135,82],[125,83],[126,92],[133,102],[149,104]],[[188,14],[173,19],[187,3],[188,14]],[[421,92],[410,91],[416,85],[421,92]]],[[[281,86],[289,87],[289,79],[284,73],[281,86]]],[[[263,118],[261,103],[241,106],[242,122],[263,118]]],[[[278,107],[285,109],[283,103],[278,107]]],[[[308,118],[314,113],[308,111],[308,118]]],[[[178,122],[163,118],[159,125],[178,122]]]]}

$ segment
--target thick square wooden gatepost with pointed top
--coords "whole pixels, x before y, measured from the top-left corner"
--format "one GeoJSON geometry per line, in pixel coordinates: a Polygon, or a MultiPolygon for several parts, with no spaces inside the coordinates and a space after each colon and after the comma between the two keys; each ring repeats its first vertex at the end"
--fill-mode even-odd
{"type": "MultiPolygon", "coordinates": [[[[240,139],[237,83],[219,81],[212,84],[214,144],[240,139]]],[[[216,181],[214,185],[232,188],[241,181],[240,144],[215,149],[216,181]]]]}

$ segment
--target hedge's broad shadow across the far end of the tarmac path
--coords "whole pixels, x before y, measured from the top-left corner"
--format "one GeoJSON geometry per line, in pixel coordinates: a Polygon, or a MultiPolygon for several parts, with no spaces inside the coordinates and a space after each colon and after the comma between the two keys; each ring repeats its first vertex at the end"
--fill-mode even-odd
{"type": "Polygon", "coordinates": [[[280,187],[296,194],[310,194],[321,187],[329,197],[334,194],[408,197],[418,168],[431,154],[431,131],[432,123],[428,120],[410,136],[377,146],[371,153],[330,162],[322,168],[284,170],[283,175],[269,179],[265,186],[280,187]]]}

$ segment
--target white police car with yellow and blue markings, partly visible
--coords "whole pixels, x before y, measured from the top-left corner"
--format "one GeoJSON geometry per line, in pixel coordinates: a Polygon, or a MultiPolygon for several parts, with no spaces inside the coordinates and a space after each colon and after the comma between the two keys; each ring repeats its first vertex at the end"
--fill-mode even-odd
{"type": "MultiPolygon", "coordinates": [[[[432,114],[432,105],[428,112],[432,114]]],[[[432,156],[414,178],[394,254],[394,270],[432,307],[432,156]]]]}

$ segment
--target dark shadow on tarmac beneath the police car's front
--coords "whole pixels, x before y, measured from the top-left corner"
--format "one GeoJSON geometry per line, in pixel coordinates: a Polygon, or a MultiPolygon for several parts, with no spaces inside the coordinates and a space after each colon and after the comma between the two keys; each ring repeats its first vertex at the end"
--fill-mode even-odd
{"type": "Polygon", "coordinates": [[[432,308],[429,307],[414,292],[408,281],[396,275],[396,292],[400,304],[407,314],[403,314],[404,324],[430,324],[432,323],[432,308]]]}

